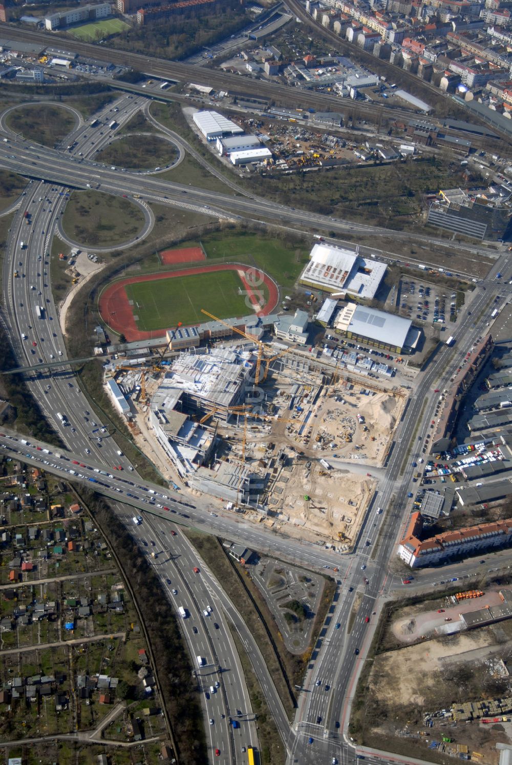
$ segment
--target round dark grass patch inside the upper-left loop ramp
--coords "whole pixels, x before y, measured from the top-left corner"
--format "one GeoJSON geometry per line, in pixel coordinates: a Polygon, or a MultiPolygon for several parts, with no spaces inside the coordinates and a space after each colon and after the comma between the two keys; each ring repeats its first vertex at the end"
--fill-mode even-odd
{"type": "Polygon", "coordinates": [[[9,112],[6,122],[15,133],[44,146],[62,141],[75,127],[75,116],[61,106],[50,104],[24,104],[9,112]]]}

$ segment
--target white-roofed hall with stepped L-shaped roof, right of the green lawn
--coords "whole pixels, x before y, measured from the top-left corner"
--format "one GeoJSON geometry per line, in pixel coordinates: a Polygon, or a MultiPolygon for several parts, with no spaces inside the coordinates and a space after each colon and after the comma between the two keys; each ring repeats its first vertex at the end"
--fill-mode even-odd
{"type": "Polygon", "coordinates": [[[326,243],[313,246],[300,283],[339,297],[357,295],[371,300],[386,273],[386,264],[363,258],[355,252],[326,243]]]}

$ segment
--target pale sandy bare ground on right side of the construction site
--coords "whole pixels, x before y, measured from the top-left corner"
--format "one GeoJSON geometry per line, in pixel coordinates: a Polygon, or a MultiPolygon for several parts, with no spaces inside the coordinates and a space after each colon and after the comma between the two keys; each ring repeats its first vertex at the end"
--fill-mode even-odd
{"type": "Polygon", "coordinates": [[[289,464],[269,489],[277,524],[291,535],[325,537],[345,552],[374,492],[371,468],[382,464],[405,400],[391,392],[365,396],[359,386],[342,393],[331,389],[319,398],[302,434],[303,418],[281,426],[280,435],[274,428],[271,434],[262,432],[254,440],[257,448],[266,440],[276,450],[289,448],[289,464]],[[299,448],[303,456],[297,459],[299,448]]]}

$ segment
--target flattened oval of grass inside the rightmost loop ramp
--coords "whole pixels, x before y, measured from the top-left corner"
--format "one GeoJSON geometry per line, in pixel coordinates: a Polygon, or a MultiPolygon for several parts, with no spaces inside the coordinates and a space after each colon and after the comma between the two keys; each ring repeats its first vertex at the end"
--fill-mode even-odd
{"type": "Polygon", "coordinates": [[[170,164],[176,155],[176,148],[165,138],[157,135],[127,135],[99,151],[96,159],[122,168],[154,170],[170,164]]]}

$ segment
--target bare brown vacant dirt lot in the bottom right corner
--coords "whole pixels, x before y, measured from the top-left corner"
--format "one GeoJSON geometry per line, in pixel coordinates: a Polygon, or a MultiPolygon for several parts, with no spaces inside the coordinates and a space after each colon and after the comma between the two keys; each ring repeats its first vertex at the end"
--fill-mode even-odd
{"type": "MultiPolygon", "coordinates": [[[[483,600],[478,598],[478,601],[483,600]]],[[[436,616],[438,605],[436,603],[433,612],[436,616]]],[[[469,605],[468,601],[466,605],[469,605]]],[[[461,610],[461,604],[455,608],[461,610]]],[[[405,620],[417,618],[422,612],[425,613],[425,604],[404,609],[395,626],[398,629],[405,620]]],[[[507,662],[512,654],[511,635],[510,624],[504,622],[436,640],[424,640],[376,656],[368,679],[365,713],[368,737],[373,741],[378,735],[395,740],[397,737],[412,739],[411,746],[416,739],[415,756],[427,760],[427,741],[451,737],[455,744],[465,744],[470,752],[482,755],[478,757],[477,754],[475,761],[497,765],[499,752],[495,750],[495,744],[512,744],[512,722],[456,724],[441,716],[433,718],[433,727],[427,728],[423,720],[425,715],[449,710],[454,703],[509,695],[512,681],[507,662]]]]}

